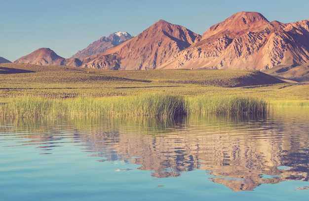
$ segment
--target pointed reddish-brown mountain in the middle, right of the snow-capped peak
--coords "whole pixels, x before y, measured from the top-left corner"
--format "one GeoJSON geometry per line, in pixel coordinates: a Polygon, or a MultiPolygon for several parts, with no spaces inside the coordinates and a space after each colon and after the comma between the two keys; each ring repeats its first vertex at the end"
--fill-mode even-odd
{"type": "Polygon", "coordinates": [[[82,67],[115,70],[156,69],[200,40],[185,27],[159,20],[138,36],[102,54],[79,58],[82,67]]]}

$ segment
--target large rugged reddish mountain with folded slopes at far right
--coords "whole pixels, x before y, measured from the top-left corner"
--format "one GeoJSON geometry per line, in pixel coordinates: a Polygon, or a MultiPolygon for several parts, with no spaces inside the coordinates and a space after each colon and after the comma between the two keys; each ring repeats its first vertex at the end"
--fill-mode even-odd
{"type": "Polygon", "coordinates": [[[283,24],[257,12],[239,12],[210,27],[198,43],[160,68],[263,71],[308,61],[309,20],[283,24]]]}

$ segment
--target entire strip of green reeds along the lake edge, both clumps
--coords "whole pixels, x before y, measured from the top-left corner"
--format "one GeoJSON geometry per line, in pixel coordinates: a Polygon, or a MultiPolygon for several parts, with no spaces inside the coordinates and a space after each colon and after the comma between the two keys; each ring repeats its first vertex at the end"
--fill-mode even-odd
{"type": "Polygon", "coordinates": [[[136,117],[175,118],[187,114],[265,114],[268,104],[240,96],[184,98],[166,93],[135,96],[46,99],[24,96],[0,99],[1,117],[136,117]]]}

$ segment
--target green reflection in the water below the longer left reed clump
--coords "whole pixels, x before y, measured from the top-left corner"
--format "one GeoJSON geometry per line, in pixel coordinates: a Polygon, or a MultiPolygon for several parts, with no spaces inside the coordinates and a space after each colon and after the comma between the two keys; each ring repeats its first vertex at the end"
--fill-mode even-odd
{"type": "MultiPolygon", "coordinates": [[[[48,132],[52,127],[59,125],[65,129],[72,127],[78,128],[80,132],[88,130],[118,130],[119,127],[131,127],[143,134],[160,135],[164,132],[170,133],[170,128],[177,125],[186,124],[186,116],[177,116],[175,118],[160,118],[148,116],[135,117],[106,117],[98,118],[95,116],[83,118],[64,118],[58,117],[50,119],[48,117],[25,117],[25,118],[4,118],[0,120],[3,125],[11,124],[12,127],[23,130],[28,133],[48,132]]],[[[11,130],[10,132],[14,132],[11,130]]]]}

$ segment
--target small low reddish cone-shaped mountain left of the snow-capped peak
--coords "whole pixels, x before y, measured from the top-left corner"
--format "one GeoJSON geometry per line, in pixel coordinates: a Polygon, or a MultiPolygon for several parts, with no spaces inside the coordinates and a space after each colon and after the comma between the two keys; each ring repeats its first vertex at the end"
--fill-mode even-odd
{"type": "Polygon", "coordinates": [[[65,65],[66,59],[58,56],[49,48],[39,48],[36,51],[23,56],[15,63],[35,64],[35,65],[65,65]]]}

